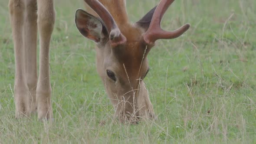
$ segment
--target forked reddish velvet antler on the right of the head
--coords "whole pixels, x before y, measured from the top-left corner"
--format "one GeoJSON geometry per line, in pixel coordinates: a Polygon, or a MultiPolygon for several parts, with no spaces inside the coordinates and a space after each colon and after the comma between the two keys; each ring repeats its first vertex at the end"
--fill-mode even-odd
{"type": "Polygon", "coordinates": [[[190,27],[190,24],[185,24],[179,29],[174,31],[165,31],[161,29],[161,20],[168,7],[173,3],[174,0],[161,0],[158,4],[148,30],[142,35],[144,42],[153,45],[158,39],[174,39],[181,36],[190,27]]]}

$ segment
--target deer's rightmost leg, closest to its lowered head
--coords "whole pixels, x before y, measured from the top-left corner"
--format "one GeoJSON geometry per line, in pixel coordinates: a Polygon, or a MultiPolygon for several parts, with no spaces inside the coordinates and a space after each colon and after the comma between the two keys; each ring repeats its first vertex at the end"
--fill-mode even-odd
{"type": "Polygon", "coordinates": [[[49,72],[49,45],[55,22],[53,0],[37,0],[38,30],[40,37],[39,79],[36,101],[39,119],[52,118],[51,85],[49,72]]]}

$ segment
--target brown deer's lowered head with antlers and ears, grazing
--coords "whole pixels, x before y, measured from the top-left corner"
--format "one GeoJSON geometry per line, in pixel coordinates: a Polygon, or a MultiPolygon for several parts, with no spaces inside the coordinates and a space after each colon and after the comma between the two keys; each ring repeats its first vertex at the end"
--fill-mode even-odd
{"type": "Polygon", "coordinates": [[[134,24],[126,20],[125,4],[115,5],[125,3],[125,0],[112,0],[111,7],[115,10],[107,10],[111,2],[105,1],[101,0],[105,3],[103,5],[98,0],[85,0],[98,16],[79,9],[75,14],[76,26],[83,36],[94,41],[98,47],[97,71],[116,114],[125,119],[137,120],[144,115],[154,118],[143,82],[149,71],[148,52],[156,40],[177,38],[190,25],[185,24],[174,31],[161,29],[161,19],[174,0],[161,0],[157,7],[134,24]]]}

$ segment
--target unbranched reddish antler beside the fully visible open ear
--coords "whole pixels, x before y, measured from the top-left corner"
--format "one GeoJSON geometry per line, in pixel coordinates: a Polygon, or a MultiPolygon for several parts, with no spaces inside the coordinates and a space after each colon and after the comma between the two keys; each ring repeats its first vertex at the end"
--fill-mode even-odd
{"type": "Polygon", "coordinates": [[[98,16],[102,19],[103,23],[105,24],[109,38],[111,40],[111,45],[113,47],[118,46],[126,42],[126,38],[120,32],[115,20],[113,19],[112,15],[108,12],[108,10],[100,3],[98,0],[84,0],[92,10],[94,10],[98,16]]]}

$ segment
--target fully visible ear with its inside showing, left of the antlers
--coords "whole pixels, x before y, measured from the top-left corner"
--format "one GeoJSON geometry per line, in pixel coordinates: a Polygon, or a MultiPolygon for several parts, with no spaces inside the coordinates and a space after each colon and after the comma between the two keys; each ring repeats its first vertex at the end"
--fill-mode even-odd
{"type": "Polygon", "coordinates": [[[83,36],[95,43],[101,42],[107,35],[102,21],[81,9],[75,12],[75,25],[83,36]]]}

